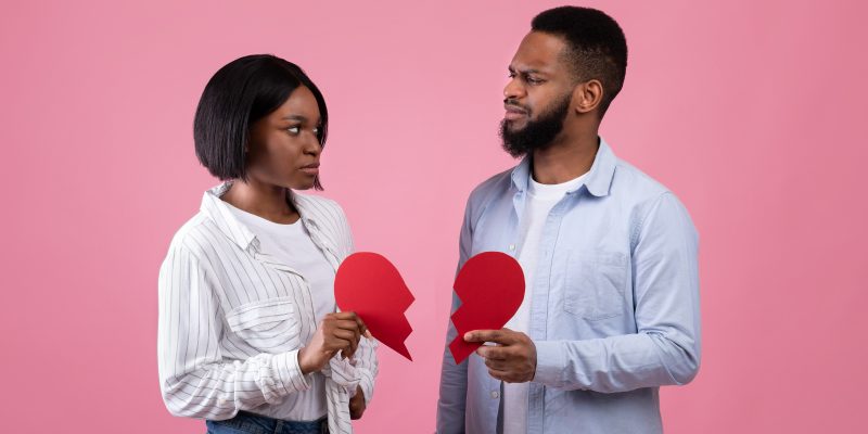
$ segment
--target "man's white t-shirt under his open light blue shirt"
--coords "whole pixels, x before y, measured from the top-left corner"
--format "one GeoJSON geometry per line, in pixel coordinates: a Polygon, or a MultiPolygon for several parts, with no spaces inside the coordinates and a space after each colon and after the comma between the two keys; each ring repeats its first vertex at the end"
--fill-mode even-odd
{"type": "MultiPolygon", "coordinates": [[[[515,316],[505,326],[507,329],[527,333],[531,321],[531,298],[533,295],[534,273],[539,254],[539,238],[549,212],[563,199],[567,191],[578,187],[583,178],[572,179],[563,183],[544,184],[529,177],[527,197],[522,216],[523,242],[519,250],[519,264],[524,271],[524,301],[515,311],[515,316]]],[[[524,434],[527,432],[527,396],[528,383],[503,383],[503,434],[524,434]]]]}

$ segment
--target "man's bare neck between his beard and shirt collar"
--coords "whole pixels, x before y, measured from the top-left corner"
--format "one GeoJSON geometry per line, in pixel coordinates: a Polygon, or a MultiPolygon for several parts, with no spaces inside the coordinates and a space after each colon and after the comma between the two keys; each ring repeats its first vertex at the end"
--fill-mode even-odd
{"type": "Polygon", "coordinates": [[[535,150],[533,176],[539,183],[554,184],[576,179],[590,170],[600,140],[595,132],[578,139],[556,141],[544,150],[535,150]]]}

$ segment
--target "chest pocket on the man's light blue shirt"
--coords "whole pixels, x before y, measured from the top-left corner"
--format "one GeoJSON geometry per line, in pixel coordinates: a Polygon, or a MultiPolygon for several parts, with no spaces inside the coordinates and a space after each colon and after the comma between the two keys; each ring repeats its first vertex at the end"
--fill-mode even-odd
{"type": "Polygon", "coordinates": [[[625,255],[573,251],[566,260],[563,309],[586,320],[624,315],[627,280],[625,255]]]}

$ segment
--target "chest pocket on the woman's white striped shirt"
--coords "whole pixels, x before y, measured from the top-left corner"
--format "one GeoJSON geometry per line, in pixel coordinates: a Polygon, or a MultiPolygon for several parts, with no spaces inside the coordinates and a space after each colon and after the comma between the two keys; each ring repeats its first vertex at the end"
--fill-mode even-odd
{"type": "Polygon", "coordinates": [[[268,298],[235,307],[226,315],[232,333],[263,353],[301,346],[299,319],[290,297],[268,298]]]}

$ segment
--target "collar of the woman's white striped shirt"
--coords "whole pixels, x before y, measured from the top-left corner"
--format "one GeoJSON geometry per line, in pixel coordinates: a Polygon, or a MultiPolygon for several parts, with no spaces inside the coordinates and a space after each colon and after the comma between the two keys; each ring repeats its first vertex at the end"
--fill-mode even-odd
{"type": "MultiPolygon", "coordinates": [[[[232,181],[224,182],[219,186],[216,186],[205,192],[202,196],[202,206],[200,210],[203,214],[208,216],[217,228],[226,234],[232,242],[238,244],[242,250],[247,250],[252,244],[258,247],[259,241],[256,238],[256,234],[247,228],[246,225],[241,222],[235,215],[229,209],[229,205],[224,202],[220,196],[226,194],[229,188],[232,187],[232,181]]],[[[286,190],[286,196],[292,204],[295,206],[295,209],[298,210],[298,214],[302,218],[302,222],[305,227],[314,229],[318,228],[317,222],[307,217],[307,206],[305,205],[304,201],[297,201],[296,194],[292,192],[292,190],[286,190]]]]}

